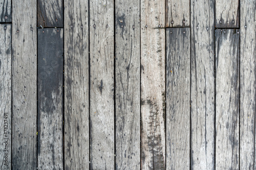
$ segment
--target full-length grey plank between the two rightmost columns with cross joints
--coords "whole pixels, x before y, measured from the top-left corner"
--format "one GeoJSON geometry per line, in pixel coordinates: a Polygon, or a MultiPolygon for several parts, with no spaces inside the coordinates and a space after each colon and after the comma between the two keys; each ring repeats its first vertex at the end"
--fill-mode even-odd
{"type": "Polygon", "coordinates": [[[191,169],[215,169],[214,0],[191,1],[191,169]]]}

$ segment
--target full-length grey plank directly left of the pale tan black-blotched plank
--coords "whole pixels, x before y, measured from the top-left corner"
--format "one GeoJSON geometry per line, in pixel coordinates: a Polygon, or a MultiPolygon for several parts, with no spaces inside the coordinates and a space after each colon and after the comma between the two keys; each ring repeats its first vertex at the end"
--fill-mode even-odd
{"type": "Polygon", "coordinates": [[[115,166],[140,169],[140,2],[118,0],[115,5],[115,166]]]}

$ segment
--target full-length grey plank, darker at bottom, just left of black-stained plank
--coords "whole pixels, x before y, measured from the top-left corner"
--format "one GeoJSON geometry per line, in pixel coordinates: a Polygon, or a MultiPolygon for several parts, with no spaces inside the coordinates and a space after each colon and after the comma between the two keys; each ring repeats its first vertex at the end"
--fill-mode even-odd
{"type": "Polygon", "coordinates": [[[36,169],[36,1],[12,8],[12,169],[36,169]]]}

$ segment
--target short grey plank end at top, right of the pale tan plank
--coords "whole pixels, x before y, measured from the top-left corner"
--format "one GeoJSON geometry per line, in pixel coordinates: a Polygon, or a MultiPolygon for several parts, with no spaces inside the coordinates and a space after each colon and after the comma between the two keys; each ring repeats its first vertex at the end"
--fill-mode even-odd
{"type": "MultiPolygon", "coordinates": [[[[165,0],[165,27],[189,27],[189,0],[165,0]]],[[[163,11],[160,11],[163,12],[163,11]]]]}

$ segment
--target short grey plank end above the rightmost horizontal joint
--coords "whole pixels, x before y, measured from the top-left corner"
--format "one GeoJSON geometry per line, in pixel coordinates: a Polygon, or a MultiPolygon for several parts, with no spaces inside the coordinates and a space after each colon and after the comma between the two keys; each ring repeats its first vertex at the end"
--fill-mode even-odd
{"type": "Polygon", "coordinates": [[[217,28],[239,28],[239,0],[215,0],[217,28]]]}

